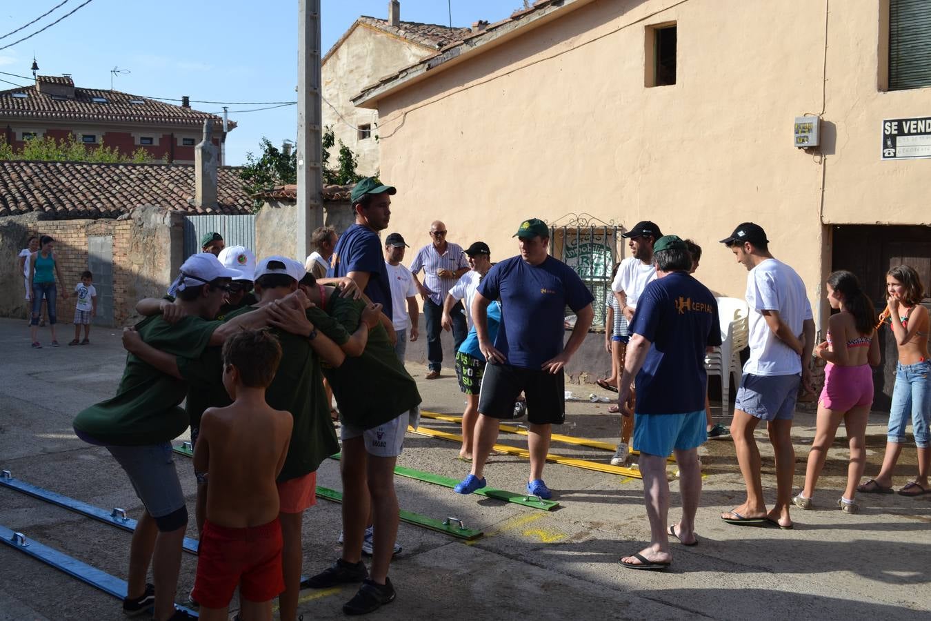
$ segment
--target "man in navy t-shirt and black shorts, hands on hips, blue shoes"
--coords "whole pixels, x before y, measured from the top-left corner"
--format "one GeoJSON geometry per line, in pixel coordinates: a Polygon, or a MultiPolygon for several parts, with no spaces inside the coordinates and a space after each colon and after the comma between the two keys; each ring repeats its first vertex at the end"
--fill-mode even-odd
{"type": "Polygon", "coordinates": [[[473,493],[485,487],[482,470],[498,438],[501,419],[514,416],[514,401],[527,397],[530,424],[530,482],[527,492],[552,496],[543,481],[551,425],[565,420],[563,367],[585,340],[594,315],[594,298],[585,283],[565,263],[549,256],[549,227],[533,218],[520,224],[520,256],[497,263],[482,279],[472,302],[472,320],[479,348],[489,362],[481,383],[479,421],[475,428],[472,472],[455,487],[473,493]],[[492,344],[488,305],[501,301],[502,320],[492,344]],[[563,345],[564,313],[575,313],[575,327],[563,345]]]}

